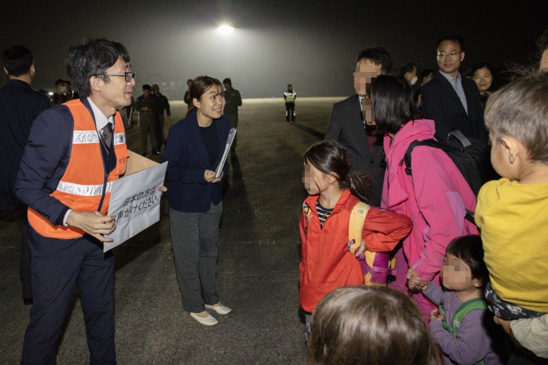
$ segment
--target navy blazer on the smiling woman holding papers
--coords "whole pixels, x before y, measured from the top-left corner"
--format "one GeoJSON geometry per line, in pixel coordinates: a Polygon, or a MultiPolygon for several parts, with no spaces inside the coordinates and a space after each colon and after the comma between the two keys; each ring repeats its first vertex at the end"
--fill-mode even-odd
{"type": "MultiPolygon", "coordinates": [[[[219,204],[222,199],[221,184],[208,183],[203,178],[206,170],[215,171],[219,165],[228,139],[230,120],[221,116],[213,120],[219,136],[219,157],[213,166],[206,149],[206,143],[198,125],[196,112],[177,122],[169,129],[166,148],[161,162],[167,161],[166,179],[169,185],[169,206],[179,212],[204,213],[211,203],[219,204]]],[[[223,166],[225,177],[228,162],[223,166]]]]}

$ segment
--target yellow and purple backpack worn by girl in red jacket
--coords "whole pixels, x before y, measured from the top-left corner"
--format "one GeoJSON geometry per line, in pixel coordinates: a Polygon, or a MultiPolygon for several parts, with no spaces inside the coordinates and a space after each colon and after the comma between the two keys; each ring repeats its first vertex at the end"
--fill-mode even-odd
{"type": "MultiPolygon", "coordinates": [[[[311,210],[308,205],[303,204],[303,212],[306,219],[305,232],[308,231],[308,221],[310,219],[311,210]]],[[[360,247],[362,242],[362,231],[364,229],[365,218],[369,212],[369,205],[359,201],[352,208],[350,212],[350,219],[348,222],[348,250],[353,254],[356,249],[360,247]]],[[[389,273],[393,273],[393,265],[395,260],[390,260],[390,253],[388,252],[371,252],[365,250],[358,262],[362,267],[362,273],[364,273],[364,284],[386,284],[386,276],[389,273]],[[388,267],[390,263],[390,267],[388,267]]],[[[395,273],[394,273],[395,274],[395,273]]]]}

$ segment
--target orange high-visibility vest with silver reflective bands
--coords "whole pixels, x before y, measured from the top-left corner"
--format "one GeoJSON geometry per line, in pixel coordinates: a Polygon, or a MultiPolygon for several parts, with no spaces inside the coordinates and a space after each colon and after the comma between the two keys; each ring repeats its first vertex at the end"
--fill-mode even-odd
{"type": "MultiPolygon", "coordinates": [[[[105,215],[108,212],[112,181],[125,173],[129,156],[122,116],[116,110],[112,136],[116,167],[107,176],[101,155],[99,133],[90,111],[79,99],[67,101],[64,105],[69,107],[74,120],[71,155],[57,188],[49,195],[73,210],[93,212],[100,209],[101,214],[105,215]]],[[[30,207],[27,215],[30,225],[42,236],[71,239],[84,235],[82,229],[51,224],[30,207]]]]}

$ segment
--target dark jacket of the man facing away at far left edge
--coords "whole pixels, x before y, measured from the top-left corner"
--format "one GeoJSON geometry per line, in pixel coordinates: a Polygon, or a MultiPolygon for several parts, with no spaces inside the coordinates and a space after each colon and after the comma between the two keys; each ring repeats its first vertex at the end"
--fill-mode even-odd
{"type": "Polygon", "coordinates": [[[14,194],[15,179],[34,119],[49,109],[47,96],[10,80],[0,88],[0,210],[24,210],[14,194]]]}

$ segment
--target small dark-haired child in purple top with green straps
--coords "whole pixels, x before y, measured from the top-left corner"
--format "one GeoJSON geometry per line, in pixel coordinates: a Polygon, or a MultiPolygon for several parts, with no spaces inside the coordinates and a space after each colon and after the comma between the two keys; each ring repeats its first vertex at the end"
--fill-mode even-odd
{"type": "Polygon", "coordinates": [[[445,290],[435,281],[420,287],[428,299],[438,303],[439,310],[430,313],[430,333],[443,351],[444,364],[503,363],[486,326],[492,319],[483,297],[489,277],[483,259],[479,236],[455,238],[445,251],[445,290]]]}

